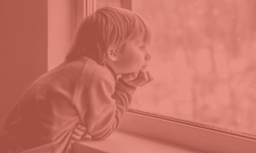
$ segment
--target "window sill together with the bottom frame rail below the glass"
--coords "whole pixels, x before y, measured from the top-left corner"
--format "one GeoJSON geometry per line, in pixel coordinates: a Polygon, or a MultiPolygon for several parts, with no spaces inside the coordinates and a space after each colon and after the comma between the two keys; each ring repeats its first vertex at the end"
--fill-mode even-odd
{"type": "Polygon", "coordinates": [[[256,137],[203,123],[184,122],[128,111],[119,130],[102,141],[90,137],[73,144],[73,152],[176,152],[176,153],[254,153],[256,137]]]}

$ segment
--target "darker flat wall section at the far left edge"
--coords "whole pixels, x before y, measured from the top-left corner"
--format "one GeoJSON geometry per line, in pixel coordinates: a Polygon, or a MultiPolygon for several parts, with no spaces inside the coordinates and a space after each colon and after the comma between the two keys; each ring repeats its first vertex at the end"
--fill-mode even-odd
{"type": "Polygon", "coordinates": [[[47,71],[47,1],[0,1],[0,120],[47,71]]]}

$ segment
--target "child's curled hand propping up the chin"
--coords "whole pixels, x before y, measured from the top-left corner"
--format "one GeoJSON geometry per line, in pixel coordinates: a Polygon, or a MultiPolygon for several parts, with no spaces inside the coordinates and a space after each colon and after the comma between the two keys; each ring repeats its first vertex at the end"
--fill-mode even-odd
{"type": "Polygon", "coordinates": [[[152,82],[154,78],[151,76],[149,71],[143,69],[138,73],[122,74],[122,79],[131,86],[143,87],[148,82],[152,82]]]}

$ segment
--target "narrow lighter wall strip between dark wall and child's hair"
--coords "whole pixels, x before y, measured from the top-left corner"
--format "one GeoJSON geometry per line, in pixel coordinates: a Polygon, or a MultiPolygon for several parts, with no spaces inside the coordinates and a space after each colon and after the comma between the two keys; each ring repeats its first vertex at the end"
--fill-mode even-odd
{"type": "Polygon", "coordinates": [[[71,47],[76,21],[73,3],[80,1],[48,1],[48,70],[63,62],[71,47]]]}

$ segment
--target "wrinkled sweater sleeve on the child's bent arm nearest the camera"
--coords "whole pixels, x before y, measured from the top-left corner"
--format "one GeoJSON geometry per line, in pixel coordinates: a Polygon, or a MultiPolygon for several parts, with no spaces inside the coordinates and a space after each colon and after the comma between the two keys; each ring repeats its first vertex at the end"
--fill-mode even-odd
{"type": "MultiPolygon", "coordinates": [[[[80,85],[81,86],[81,85],[80,85]]],[[[119,79],[95,78],[77,90],[75,107],[92,139],[106,139],[120,124],[136,88],[119,79]],[[82,87],[82,88],[81,88],[82,87]]]]}

